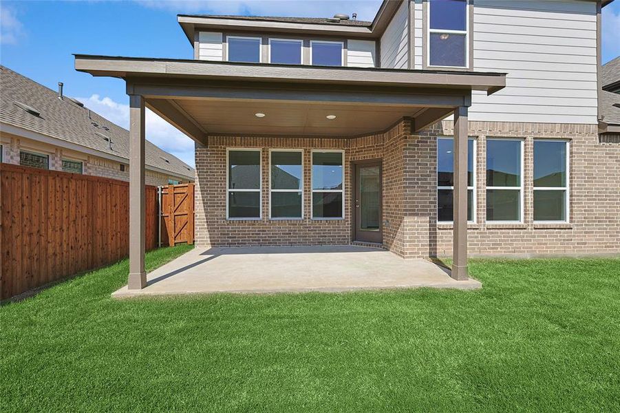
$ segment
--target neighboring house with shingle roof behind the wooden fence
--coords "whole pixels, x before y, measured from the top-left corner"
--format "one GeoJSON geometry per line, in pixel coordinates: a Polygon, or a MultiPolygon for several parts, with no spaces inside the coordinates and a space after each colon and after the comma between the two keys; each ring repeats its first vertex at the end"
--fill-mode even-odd
{"type": "MultiPolygon", "coordinates": [[[[129,180],[129,132],[83,103],[0,66],[1,162],[129,180]]],[[[193,182],[194,170],[145,142],[151,185],[193,182]]]]}

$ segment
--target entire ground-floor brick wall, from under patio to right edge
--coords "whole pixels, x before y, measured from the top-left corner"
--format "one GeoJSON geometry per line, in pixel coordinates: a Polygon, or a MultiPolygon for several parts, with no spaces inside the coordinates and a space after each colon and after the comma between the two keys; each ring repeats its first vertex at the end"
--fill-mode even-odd
{"type": "MultiPolygon", "coordinates": [[[[264,246],[352,242],[352,162],[383,160],[383,244],[403,257],[451,255],[452,226],[437,223],[436,137],[452,136],[451,121],[411,134],[408,120],[384,134],[363,138],[268,138],[210,136],[196,146],[196,244],[264,246]],[[260,148],[261,220],[226,220],[226,148],[260,148]],[[303,149],[302,220],[269,220],[269,149],[303,149]],[[345,151],[345,218],[310,218],[312,149],[345,151]]],[[[620,253],[620,145],[599,140],[596,125],[469,123],[476,139],[476,216],[469,224],[469,253],[620,253]],[[524,222],[486,220],[487,136],[524,139],[524,222]],[[570,222],[533,222],[533,141],[570,140],[570,222]]]]}

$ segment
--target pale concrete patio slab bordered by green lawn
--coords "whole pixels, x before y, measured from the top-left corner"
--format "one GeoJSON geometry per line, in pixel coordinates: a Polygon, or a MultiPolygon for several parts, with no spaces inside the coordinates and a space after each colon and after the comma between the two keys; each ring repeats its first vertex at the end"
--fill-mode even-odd
{"type": "Polygon", "coordinates": [[[200,293],[277,293],[388,288],[475,289],[427,260],[404,260],[363,246],[195,248],[147,275],[142,290],[113,297],[200,293]]]}

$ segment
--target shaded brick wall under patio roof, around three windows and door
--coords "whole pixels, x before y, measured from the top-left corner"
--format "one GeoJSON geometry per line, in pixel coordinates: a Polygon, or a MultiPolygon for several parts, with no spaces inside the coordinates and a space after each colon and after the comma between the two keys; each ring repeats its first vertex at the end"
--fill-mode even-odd
{"type": "Polygon", "coordinates": [[[351,225],[351,162],[383,158],[384,244],[402,253],[399,237],[402,221],[402,159],[408,123],[398,123],[385,134],[363,138],[265,138],[210,136],[209,147],[196,145],[197,246],[242,245],[320,245],[349,244],[351,225]],[[226,148],[261,148],[262,205],[261,220],[226,220],[226,148]],[[269,217],[269,149],[303,149],[303,219],[270,220],[269,217]],[[343,220],[312,220],[311,169],[312,149],[345,151],[345,217],[343,220]]]}

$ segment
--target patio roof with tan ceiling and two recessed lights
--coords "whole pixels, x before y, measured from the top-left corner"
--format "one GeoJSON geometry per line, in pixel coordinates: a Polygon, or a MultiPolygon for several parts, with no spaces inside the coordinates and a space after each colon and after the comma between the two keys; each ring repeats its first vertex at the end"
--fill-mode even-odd
{"type": "Polygon", "coordinates": [[[187,136],[373,134],[402,118],[414,130],[492,94],[505,75],[487,72],[267,65],[76,55],[76,70],[127,82],[127,94],[187,136]],[[257,118],[256,113],[266,116],[257,118]],[[328,120],[327,115],[336,119],[328,120]]]}

